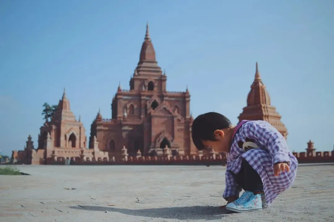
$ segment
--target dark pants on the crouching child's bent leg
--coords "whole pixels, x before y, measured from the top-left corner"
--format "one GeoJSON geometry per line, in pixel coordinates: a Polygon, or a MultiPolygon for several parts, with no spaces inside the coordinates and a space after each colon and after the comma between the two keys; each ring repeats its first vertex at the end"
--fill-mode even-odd
{"type": "Polygon", "coordinates": [[[263,191],[263,183],[260,175],[249,165],[249,163],[242,158],[240,171],[235,174],[230,172],[235,182],[244,191],[259,192],[263,191]]]}

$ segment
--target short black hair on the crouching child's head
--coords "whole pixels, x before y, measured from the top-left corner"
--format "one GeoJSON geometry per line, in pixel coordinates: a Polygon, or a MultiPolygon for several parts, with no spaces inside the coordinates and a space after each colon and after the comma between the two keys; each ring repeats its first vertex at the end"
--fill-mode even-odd
{"type": "Polygon", "coordinates": [[[214,131],[231,127],[231,121],[224,115],[215,112],[197,116],[191,126],[191,137],[198,150],[205,149],[202,140],[216,141],[214,131]]]}

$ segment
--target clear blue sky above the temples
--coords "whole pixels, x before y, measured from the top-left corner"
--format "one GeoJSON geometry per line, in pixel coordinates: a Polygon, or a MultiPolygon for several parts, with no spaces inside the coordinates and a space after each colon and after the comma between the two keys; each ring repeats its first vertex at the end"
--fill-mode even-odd
{"type": "Polygon", "coordinates": [[[87,135],[99,108],[111,118],[119,82],[129,89],[146,22],[167,89],[188,84],[191,111],[237,123],[259,62],[291,150],[334,144],[334,1],[2,0],[0,149],[35,146],[42,104],[63,88],[87,135]]]}

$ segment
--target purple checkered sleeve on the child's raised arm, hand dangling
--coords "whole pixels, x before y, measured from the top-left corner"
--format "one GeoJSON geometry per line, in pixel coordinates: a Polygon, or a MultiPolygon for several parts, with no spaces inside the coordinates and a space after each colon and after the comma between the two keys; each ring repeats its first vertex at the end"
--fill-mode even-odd
{"type": "Polygon", "coordinates": [[[273,164],[279,162],[290,162],[289,148],[282,134],[266,121],[249,121],[245,130],[248,137],[257,140],[267,147],[273,164]]]}

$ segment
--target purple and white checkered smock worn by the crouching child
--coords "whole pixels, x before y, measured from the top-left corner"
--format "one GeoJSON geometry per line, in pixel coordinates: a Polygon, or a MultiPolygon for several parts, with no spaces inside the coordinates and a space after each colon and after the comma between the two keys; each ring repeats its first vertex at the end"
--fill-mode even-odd
{"type": "Polygon", "coordinates": [[[298,161],[289,152],[288,145],[278,130],[266,121],[241,121],[231,141],[231,149],[227,153],[226,188],[223,197],[239,196],[238,189],[232,174],[237,174],[241,167],[241,158],[245,160],[260,175],[266,196],[266,202],[270,205],[278,194],[287,190],[296,178],[298,161]],[[238,129],[239,128],[239,129],[238,129]],[[238,142],[245,142],[245,138],[255,140],[260,149],[251,149],[247,152],[239,148],[238,142]],[[273,165],[278,162],[289,162],[290,172],[280,172],[274,176],[273,165]]]}

